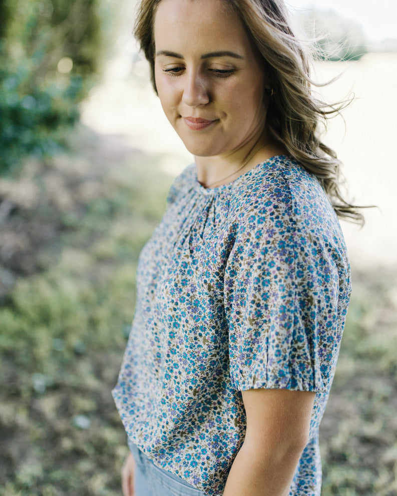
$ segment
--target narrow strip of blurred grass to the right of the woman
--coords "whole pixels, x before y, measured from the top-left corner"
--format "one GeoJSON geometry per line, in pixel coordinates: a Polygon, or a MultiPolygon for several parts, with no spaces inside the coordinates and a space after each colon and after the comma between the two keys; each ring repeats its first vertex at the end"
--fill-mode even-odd
{"type": "Polygon", "coordinates": [[[334,384],[321,427],[323,496],[397,493],[397,285],[355,272],[334,384]]]}

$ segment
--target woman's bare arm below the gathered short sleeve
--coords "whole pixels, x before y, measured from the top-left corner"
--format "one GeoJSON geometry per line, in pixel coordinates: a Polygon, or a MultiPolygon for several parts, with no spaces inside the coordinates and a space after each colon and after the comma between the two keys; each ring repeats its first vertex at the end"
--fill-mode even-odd
{"type": "Polygon", "coordinates": [[[288,496],[308,441],[315,393],[249,389],[242,396],[247,430],[223,496],[288,496]]]}

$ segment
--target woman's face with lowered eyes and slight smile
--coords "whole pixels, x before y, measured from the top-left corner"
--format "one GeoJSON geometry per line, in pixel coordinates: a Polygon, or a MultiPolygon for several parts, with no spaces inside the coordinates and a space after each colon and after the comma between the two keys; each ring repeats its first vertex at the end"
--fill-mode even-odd
{"type": "Polygon", "coordinates": [[[230,156],[265,125],[266,75],[239,17],[223,0],[162,0],[154,23],[163,110],[196,156],[230,156]]]}

